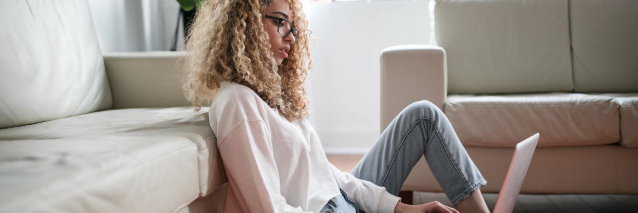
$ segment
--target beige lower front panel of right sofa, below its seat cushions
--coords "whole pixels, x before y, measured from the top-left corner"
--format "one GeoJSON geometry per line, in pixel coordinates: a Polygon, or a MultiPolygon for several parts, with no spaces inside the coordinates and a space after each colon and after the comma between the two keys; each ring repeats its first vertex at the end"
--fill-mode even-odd
{"type": "MultiPolygon", "coordinates": [[[[483,193],[498,193],[514,149],[465,148],[487,180],[487,185],[480,190],[483,193]]],[[[536,149],[521,193],[636,194],[638,165],[635,162],[638,162],[638,149],[627,149],[616,144],[536,149]]],[[[414,166],[401,190],[442,191],[424,158],[414,166]]]]}

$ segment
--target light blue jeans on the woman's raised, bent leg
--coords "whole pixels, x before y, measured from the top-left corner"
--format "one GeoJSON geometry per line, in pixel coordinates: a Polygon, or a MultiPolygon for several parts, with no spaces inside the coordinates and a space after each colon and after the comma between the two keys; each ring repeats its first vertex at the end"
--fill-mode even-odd
{"type": "Polygon", "coordinates": [[[352,174],[398,196],[403,182],[422,156],[426,157],[434,178],[452,205],[487,184],[450,121],[429,101],[417,101],[404,108],[352,174]]]}

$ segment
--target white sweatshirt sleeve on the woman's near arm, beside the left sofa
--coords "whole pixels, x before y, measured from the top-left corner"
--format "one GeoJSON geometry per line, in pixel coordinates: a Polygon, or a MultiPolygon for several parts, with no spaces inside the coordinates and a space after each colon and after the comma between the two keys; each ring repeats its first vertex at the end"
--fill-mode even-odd
{"type": "Polygon", "coordinates": [[[218,142],[235,195],[247,212],[302,212],[281,196],[272,141],[262,120],[241,121],[218,142]]]}

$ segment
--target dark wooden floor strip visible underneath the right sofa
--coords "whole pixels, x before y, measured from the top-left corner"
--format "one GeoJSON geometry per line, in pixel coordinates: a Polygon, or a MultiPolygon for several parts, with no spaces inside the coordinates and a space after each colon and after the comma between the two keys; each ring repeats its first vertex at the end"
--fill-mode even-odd
{"type": "MultiPolygon", "coordinates": [[[[493,210],[498,194],[483,197],[493,210]]],[[[413,195],[414,204],[434,200],[452,205],[443,193],[413,195]]],[[[514,212],[638,212],[638,195],[519,195],[514,212]]]]}

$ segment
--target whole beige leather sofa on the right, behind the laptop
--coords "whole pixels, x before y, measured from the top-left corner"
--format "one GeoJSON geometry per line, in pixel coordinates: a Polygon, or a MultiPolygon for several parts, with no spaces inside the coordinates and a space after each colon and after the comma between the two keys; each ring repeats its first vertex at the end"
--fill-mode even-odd
{"type": "MultiPolygon", "coordinates": [[[[431,6],[436,45],[381,55],[382,129],[427,99],[487,179],[540,132],[521,193],[638,193],[638,3],[461,1],[431,6]]],[[[403,191],[441,191],[424,160],[403,191]]]]}

